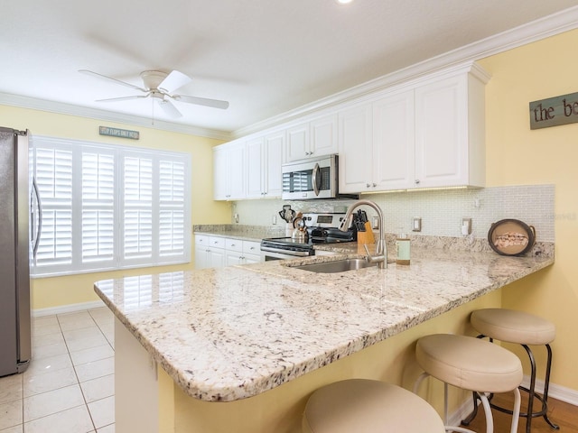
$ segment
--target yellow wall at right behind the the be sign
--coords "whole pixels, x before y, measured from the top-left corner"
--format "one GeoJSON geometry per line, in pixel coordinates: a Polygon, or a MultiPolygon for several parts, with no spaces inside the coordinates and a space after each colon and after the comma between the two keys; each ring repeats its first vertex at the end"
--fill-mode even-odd
{"type": "MultiPolygon", "coordinates": [[[[486,88],[488,186],[555,184],[555,265],[503,290],[503,305],[555,323],[551,381],[574,391],[578,391],[578,124],[532,131],[528,103],[578,92],[577,46],[578,31],[565,32],[480,61],[492,74],[486,88]]],[[[538,359],[545,364],[544,356],[538,359]]]]}

